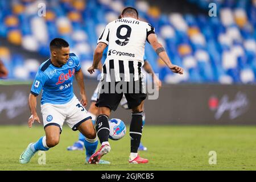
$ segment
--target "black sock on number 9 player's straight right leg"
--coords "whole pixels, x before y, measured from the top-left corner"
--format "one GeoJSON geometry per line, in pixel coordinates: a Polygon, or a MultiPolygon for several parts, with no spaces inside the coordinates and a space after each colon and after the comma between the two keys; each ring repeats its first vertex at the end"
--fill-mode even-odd
{"type": "Polygon", "coordinates": [[[142,136],[142,115],[143,112],[131,113],[130,137],[131,152],[137,153],[142,136]]]}

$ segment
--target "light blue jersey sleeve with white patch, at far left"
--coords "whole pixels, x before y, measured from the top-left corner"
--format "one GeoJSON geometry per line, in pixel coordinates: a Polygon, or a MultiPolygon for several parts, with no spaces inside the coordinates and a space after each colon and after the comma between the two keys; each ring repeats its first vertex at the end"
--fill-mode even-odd
{"type": "Polygon", "coordinates": [[[44,72],[40,71],[40,68],[39,68],[38,72],[36,73],[35,80],[32,84],[30,93],[33,94],[34,96],[38,96],[46,81],[47,81],[47,76],[44,75],[44,72]]]}

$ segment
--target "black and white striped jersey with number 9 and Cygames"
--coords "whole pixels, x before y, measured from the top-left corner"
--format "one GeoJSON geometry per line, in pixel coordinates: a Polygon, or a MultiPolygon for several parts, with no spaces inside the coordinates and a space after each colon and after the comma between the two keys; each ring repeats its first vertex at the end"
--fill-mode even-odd
{"type": "Polygon", "coordinates": [[[107,82],[139,80],[144,47],[150,34],[155,34],[154,27],[134,18],[117,19],[105,27],[98,43],[108,45],[102,68],[107,82]]]}

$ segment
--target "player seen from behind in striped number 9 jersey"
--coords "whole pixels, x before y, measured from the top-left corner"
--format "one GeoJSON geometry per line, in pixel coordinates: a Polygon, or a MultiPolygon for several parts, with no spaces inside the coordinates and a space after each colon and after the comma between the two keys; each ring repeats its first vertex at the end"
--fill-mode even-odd
{"type": "Polygon", "coordinates": [[[162,44],[158,42],[154,27],[139,20],[136,9],[126,7],[121,15],[122,19],[110,22],[98,38],[93,65],[88,68],[90,74],[94,73],[94,69],[98,69],[102,53],[109,46],[96,102],[96,106],[99,107],[96,131],[101,147],[89,159],[89,163],[94,164],[98,163],[103,155],[110,152],[109,116],[112,110],[117,109],[123,94],[132,110],[129,131],[131,137],[129,163],[148,163],[147,159],[138,155],[142,137],[142,106],[146,98],[141,75],[146,40],[172,72],[183,74],[183,68],[171,63],[162,44]]]}

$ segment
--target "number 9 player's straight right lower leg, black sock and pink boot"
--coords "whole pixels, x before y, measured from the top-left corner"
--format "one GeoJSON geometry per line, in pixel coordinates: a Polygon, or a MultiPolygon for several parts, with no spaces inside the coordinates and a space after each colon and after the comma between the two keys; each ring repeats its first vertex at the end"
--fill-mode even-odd
{"type": "Polygon", "coordinates": [[[148,163],[147,159],[143,159],[138,155],[139,144],[142,136],[142,115],[143,112],[133,112],[130,125],[131,137],[131,153],[129,157],[130,164],[148,163]]]}

